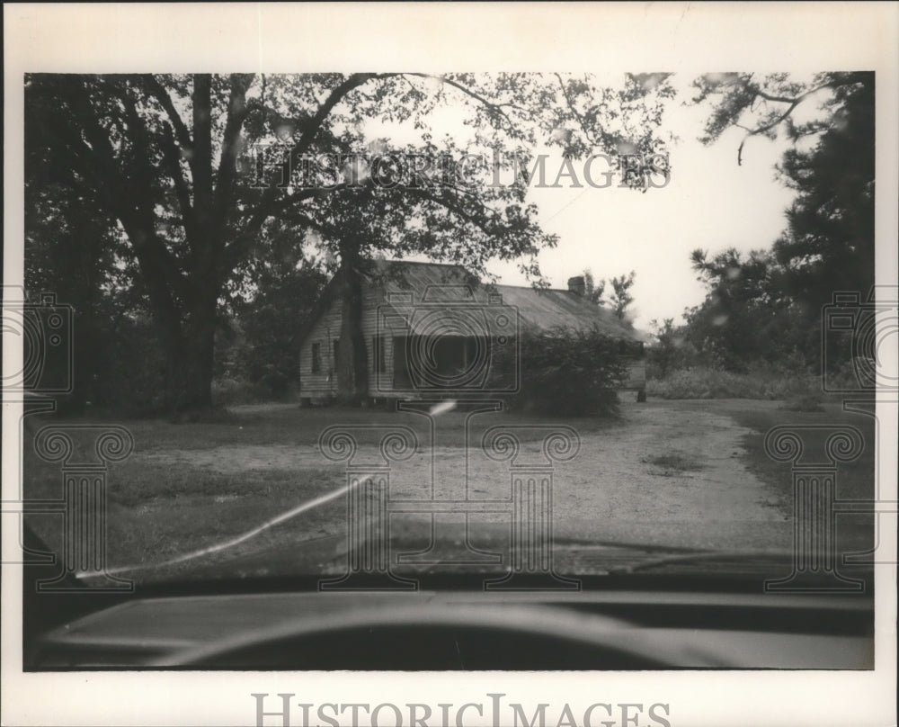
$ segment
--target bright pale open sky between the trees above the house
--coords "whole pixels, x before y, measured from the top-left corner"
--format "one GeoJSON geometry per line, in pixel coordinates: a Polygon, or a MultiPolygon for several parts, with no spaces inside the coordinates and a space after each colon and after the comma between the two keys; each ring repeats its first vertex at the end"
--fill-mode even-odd
{"type": "MultiPolygon", "coordinates": [[[[709,146],[699,142],[708,106],[684,103],[691,81],[692,76],[674,76],[678,96],[663,118],[663,130],[676,139],[669,148],[672,175],[667,186],[646,193],[586,184],[580,189],[532,187],[529,192],[542,228],[560,240],[538,258],[552,287],[565,288],[568,278],[585,269],[597,280],[634,271],[630,314],[644,330],[651,330],[654,319],[681,320],[684,309],[704,299],[705,288],[690,269],[692,250],[701,247],[714,254],[728,247],[745,252],[770,247],[785,228],[784,211],[793,199],[775,177],[787,147],[784,139],[749,139],[742,166],[737,165],[742,130],[725,132],[709,146]]],[[[803,115],[814,108],[810,101],[803,115]]],[[[458,118],[449,110],[432,120],[432,128],[461,133],[458,118]]],[[[392,131],[392,140],[403,136],[392,131]]],[[[557,153],[547,160],[549,180],[560,164],[557,153]]],[[[583,166],[575,168],[581,175],[583,166]]],[[[594,179],[601,178],[603,168],[597,162],[594,179]]],[[[499,283],[530,284],[515,262],[494,260],[487,271],[498,275],[499,283]]]]}

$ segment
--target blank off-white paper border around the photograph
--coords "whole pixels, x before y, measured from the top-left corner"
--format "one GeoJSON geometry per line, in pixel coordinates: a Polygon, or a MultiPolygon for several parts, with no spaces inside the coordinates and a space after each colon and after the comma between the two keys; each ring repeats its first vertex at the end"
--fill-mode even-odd
{"type": "MultiPolygon", "coordinates": [[[[13,4],[4,5],[4,283],[22,279],[26,71],[877,71],[877,282],[895,284],[899,5],[889,4],[13,4]]],[[[4,346],[4,361],[21,357],[4,346]]],[[[21,359],[20,359],[21,360],[21,359]]],[[[4,407],[4,499],[18,488],[18,411],[4,407]],[[13,488],[13,489],[9,489],[13,488]]],[[[895,499],[895,420],[882,421],[895,499]],[[887,449],[888,447],[888,449],[887,449]]],[[[15,496],[13,495],[13,498],[15,496]]],[[[885,528],[886,552],[895,532],[885,528]]],[[[4,553],[15,548],[4,529],[4,553]],[[11,544],[12,543],[12,544],[11,544]]],[[[2,581],[3,723],[252,724],[251,692],[307,701],[663,702],[673,727],[895,724],[895,566],[877,573],[872,672],[645,674],[21,673],[21,578],[2,581]]],[[[575,711],[576,714],[576,711],[575,711]]]]}

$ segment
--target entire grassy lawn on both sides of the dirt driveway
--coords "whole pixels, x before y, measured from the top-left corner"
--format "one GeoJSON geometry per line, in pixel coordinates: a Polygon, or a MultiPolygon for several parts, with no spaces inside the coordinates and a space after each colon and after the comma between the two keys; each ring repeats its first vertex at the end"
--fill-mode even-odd
{"type": "MultiPolygon", "coordinates": [[[[747,468],[772,493],[770,507],[778,507],[785,516],[793,510],[792,476],[788,462],[776,462],[765,453],[764,435],[772,426],[784,424],[814,424],[855,426],[864,437],[865,450],[855,462],[842,463],[838,470],[837,495],[843,499],[866,499],[874,494],[874,422],[871,417],[844,412],[827,404],[822,412],[794,412],[778,408],[776,402],[750,399],[703,399],[652,401],[649,405],[633,405],[633,412],[642,411],[650,423],[657,407],[671,409],[669,419],[673,429],[682,433],[684,417],[677,412],[696,409],[709,414],[732,417],[749,430],[743,435],[743,451],[739,455],[747,468]],[[642,408],[641,407],[645,407],[642,408]]],[[[441,415],[437,444],[460,447],[465,444],[466,414],[449,411],[441,415]]],[[[636,429],[628,435],[628,416],[623,420],[577,418],[549,420],[521,417],[500,412],[476,417],[476,435],[498,424],[565,424],[573,426],[581,435],[602,435],[610,427],[609,437],[593,442],[621,441],[636,436],[636,429]],[[619,439],[616,439],[618,437],[619,439]]],[[[31,433],[49,420],[33,417],[28,426],[31,433]]],[[[86,420],[71,422],[84,424],[86,420]]],[[[296,568],[289,562],[292,553],[302,552],[304,568],[322,572],[328,564],[339,561],[345,543],[346,504],[342,488],[345,475],[341,465],[328,465],[317,452],[318,437],[328,426],[359,426],[356,430],[360,445],[378,444],[383,430],[378,426],[411,426],[420,436],[420,448],[427,449],[430,435],[427,420],[407,412],[387,412],[376,409],[298,408],[296,405],[257,405],[237,407],[227,423],[180,424],[164,420],[133,420],[118,422],[134,436],[135,453],[126,461],[111,465],[108,482],[109,516],[108,561],[111,566],[143,565],[146,570],[129,572],[129,577],[161,578],[187,574],[198,567],[227,559],[229,570],[247,574],[265,574],[271,563],[266,552],[287,553],[280,558],[284,568],[296,568]],[[200,559],[150,568],[152,564],[170,561],[185,553],[205,549],[217,543],[227,543],[263,525],[271,518],[298,507],[302,503],[327,493],[335,497],[320,507],[291,517],[283,524],[273,525],[245,541],[229,546],[227,552],[203,555],[200,559]],[[312,553],[309,555],[309,553],[312,553]],[[312,559],[311,561],[309,559],[312,559]],[[250,563],[245,571],[235,564],[250,563]]],[[[644,425],[642,426],[645,426],[644,425]]],[[[53,421],[65,426],[68,422],[53,421]]],[[[672,429],[672,431],[673,431],[672,429]]],[[[708,434],[701,428],[697,446],[707,442],[708,434]]],[[[708,431],[708,430],[707,430],[708,431]]],[[[542,436],[545,429],[533,432],[542,436]]],[[[826,433],[806,436],[808,451],[823,447],[826,433]]],[[[525,437],[527,438],[527,437],[525,437]]],[[[641,440],[642,441],[642,440],[641,440]]],[[[648,444],[648,443],[647,443],[648,444]]],[[[87,446],[88,443],[81,443],[87,446]]],[[[583,457],[589,461],[590,453],[583,457]]],[[[641,464],[652,466],[651,474],[678,480],[685,473],[704,471],[704,460],[697,450],[680,451],[636,445],[633,464],[624,462],[626,471],[635,473],[641,464]]],[[[609,461],[596,460],[599,470],[609,461]]],[[[596,470],[596,471],[599,471],[596,470]]],[[[591,473],[594,470],[591,470],[591,473]]],[[[26,437],[24,444],[25,493],[29,498],[59,498],[60,470],[58,464],[41,461],[33,452],[26,437]]],[[[588,473],[588,474],[591,474],[588,473]]],[[[634,476],[634,475],[632,475],[634,476]]],[[[588,481],[592,481],[588,477],[588,481]]],[[[645,483],[638,487],[646,486],[645,483]]],[[[560,507],[561,507],[560,503],[560,507]]],[[[60,546],[61,520],[58,516],[31,516],[35,530],[55,549],[60,546]]],[[[852,525],[866,535],[870,532],[870,516],[841,516],[841,529],[852,525]]],[[[852,539],[858,543],[857,538],[852,539]]],[[[280,556],[279,556],[280,557],[280,556]]]]}

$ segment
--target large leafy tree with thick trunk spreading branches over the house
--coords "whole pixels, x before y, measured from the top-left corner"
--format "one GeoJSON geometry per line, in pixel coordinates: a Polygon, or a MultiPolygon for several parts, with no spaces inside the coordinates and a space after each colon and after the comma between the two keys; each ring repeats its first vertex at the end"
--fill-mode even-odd
{"type": "MultiPolygon", "coordinates": [[[[67,166],[76,190],[89,190],[127,241],[125,265],[133,261],[164,334],[171,406],[185,413],[211,406],[218,312],[267,254],[271,226],[302,230],[337,262],[351,330],[361,268],[378,250],[425,253],[474,273],[494,256],[521,258],[537,272],[537,252],[555,243],[539,229],[524,185],[490,184],[482,175],[474,184],[388,189],[370,174],[335,184],[257,184],[247,179],[254,168],[241,175],[256,142],[279,142],[297,165],[309,154],[366,148],[377,122],[418,132],[384,149],[425,156],[489,147],[504,158],[527,157],[541,142],[566,154],[598,146],[612,155],[653,153],[669,95],[663,75],[628,76],[617,90],[529,74],[32,75],[25,102],[30,144],[46,150],[34,163],[52,157],[67,166]],[[428,128],[440,107],[467,114],[469,133],[458,144],[428,128]]],[[[641,180],[637,174],[631,184],[641,180]]],[[[346,346],[355,338],[342,337],[346,346]]],[[[364,370],[356,344],[342,356],[354,362],[342,376],[348,395],[360,390],[364,370]]]]}

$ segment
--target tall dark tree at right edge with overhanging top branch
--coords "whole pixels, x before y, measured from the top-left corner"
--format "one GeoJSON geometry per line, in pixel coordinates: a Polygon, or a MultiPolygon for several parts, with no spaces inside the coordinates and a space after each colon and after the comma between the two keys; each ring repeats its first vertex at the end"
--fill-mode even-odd
{"type": "Polygon", "coordinates": [[[797,196],[770,249],[693,252],[708,296],[690,313],[689,337],[700,348],[715,346],[730,368],[762,357],[814,367],[823,305],[834,292],[864,293],[874,283],[874,74],[822,73],[804,82],[788,74],[714,74],[696,87],[697,101],[713,102],[706,141],[743,129],[738,163],[747,139],[786,134],[793,143],[778,176],[797,196]],[[814,103],[812,121],[794,119],[800,106],[814,103]]]}

